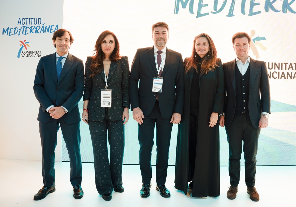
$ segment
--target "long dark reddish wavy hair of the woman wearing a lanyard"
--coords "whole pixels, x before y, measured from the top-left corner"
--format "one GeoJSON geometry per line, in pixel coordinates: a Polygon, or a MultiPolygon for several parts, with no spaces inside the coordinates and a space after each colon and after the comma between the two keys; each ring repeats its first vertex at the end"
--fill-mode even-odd
{"type": "Polygon", "coordinates": [[[90,65],[90,70],[91,70],[92,74],[89,77],[99,74],[104,69],[104,67],[102,67],[102,66],[103,66],[103,60],[106,58],[106,56],[105,56],[104,52],[102,51],[101,44],[107,35],[112,35],[114,37],[114,41],[115,41],[115,48],[110,55],[111,62],[116,62],[117,60],[119,60],[121,58],[121,55],[119,52],[119,42],[118,42],[118,39],[115,36],[115,34],[113,32],[110,32],[109,30],[102,32],[99,35],[98,39],[96,40],[96,45],[94,46],[93,52],[95,52],[95,53],[93,54],[93,59],[91,61],[91,65],[90,65]]]}

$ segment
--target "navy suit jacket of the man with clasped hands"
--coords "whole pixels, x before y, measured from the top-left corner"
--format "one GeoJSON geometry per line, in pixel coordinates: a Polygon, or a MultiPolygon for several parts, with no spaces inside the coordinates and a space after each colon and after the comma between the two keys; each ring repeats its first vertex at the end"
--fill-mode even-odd
{"type": "Polygon", "coordinates": [[[64,106],[68,112],[62,116],[67,124],[80,122],[78,102],[83,95],[83,62],[67,56],[59,80],[57,80],[56,53],[41,57],[34,80],[34,93],[40,103],[37,120],[47,123],[52,117],[46,111],[51,106],[64,106]],[[58,101],[58,103],[57,103],[58,101]]]}

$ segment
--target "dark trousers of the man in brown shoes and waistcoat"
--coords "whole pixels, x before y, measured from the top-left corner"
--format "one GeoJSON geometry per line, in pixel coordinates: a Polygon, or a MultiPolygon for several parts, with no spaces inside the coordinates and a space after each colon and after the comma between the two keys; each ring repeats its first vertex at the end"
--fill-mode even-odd
{"type": "Polygon", "coordinates": [[[245,182],[247,187],[255,186],[256,155],[260,129],[253,127],[246,113],[234,116],[226,128],[229,143],[229,176],[230,185],[238,186],[240,175],[240,159],[244,150],[245,182]],[[244,145],[242,146],[242,142],[244,145]]]}

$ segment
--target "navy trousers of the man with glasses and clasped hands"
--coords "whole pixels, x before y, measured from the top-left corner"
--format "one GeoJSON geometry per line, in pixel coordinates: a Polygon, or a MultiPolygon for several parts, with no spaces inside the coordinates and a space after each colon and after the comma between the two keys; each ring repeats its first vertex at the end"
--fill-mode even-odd
{"type": "Polygon", "coordinates": [[[51,119],[47,123],[39,122],[39,132],[42,147],[42,177],[43,185],[54,185],[54,149],[57,146],[57,131],[61,125],[63,138],[70,158],[70,182],[72,186],[81,185],[82,165],[80,155],[80,123],[67,124],[63,118],[51,119]]]}

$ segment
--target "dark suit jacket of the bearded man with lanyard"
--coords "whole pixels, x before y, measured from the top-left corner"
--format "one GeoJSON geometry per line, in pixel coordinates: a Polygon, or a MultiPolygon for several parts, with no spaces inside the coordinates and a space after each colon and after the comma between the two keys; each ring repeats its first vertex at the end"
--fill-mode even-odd
{"type": "MultiPolygon", "coordinates": [[[[131,65],[129,94],[131,109],[140,107],[144,117],[151,113],[156,101],[157,93],[152,92],[153,77],[155,76],[157,76],[157,69],[153,46],[138,49],[131,65]]],[[[160,113],[163,118],[169,118],[173,113],[183,114],[183,76],[182,55],[167,48],[165,66],[161,74],[163,88],[162,93],[158,93],[160,113]]]]}

